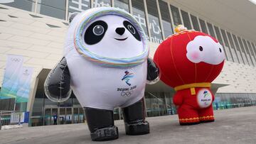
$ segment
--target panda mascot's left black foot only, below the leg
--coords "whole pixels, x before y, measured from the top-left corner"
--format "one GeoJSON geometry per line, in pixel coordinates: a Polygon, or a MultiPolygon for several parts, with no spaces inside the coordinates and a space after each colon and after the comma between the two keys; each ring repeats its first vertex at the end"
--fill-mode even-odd
{"type": "Polygon", "coordinates": [[[118,138],[118,128],[117,126],[100,128],[90,135],[94,141],[115,140],[118,138]]]}

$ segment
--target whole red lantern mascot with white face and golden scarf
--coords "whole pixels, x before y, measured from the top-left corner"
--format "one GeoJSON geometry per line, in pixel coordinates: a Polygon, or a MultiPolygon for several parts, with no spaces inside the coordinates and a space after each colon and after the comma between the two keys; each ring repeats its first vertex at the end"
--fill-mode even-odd
{"type": "Polygon", "coordinates": [[[218,40],[183,26],[157,48],[154,61],[161,80],[176,90],[174,104],[181,125],[214,121],[210,82],[220,74],[224,60],[218,40]]]}

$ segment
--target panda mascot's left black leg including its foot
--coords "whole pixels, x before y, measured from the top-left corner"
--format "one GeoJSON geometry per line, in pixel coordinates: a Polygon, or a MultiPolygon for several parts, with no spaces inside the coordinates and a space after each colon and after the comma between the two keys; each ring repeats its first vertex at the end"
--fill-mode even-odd
{"type": "Polygon", "coordinates": [[[118,138],[118,128],[114,126],[113,111],[85,107],[87,125],[91,138],[95,141],[118,138]]]}

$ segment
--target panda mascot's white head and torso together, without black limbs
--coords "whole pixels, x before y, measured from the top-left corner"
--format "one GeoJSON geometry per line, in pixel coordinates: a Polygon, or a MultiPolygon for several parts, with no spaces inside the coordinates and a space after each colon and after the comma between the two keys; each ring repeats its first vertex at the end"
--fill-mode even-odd
{"type": "Polygon", "coordinates": [[[79,13],[65,42],[71,87],[82,107],[113,110],[142,99],[149,48],[132,16],[112,8],[79,13]]]}

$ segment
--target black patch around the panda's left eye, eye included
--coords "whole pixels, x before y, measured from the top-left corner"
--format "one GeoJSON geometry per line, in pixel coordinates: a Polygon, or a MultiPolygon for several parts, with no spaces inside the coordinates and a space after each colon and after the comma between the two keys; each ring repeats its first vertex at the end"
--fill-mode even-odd
{"type": "Polygon", "coordinates": [[[105,21],[95,21],[85,31],[85,43],[87,45],[94,45],[99,43],[107,31],[107,23],[105,21]]]}

